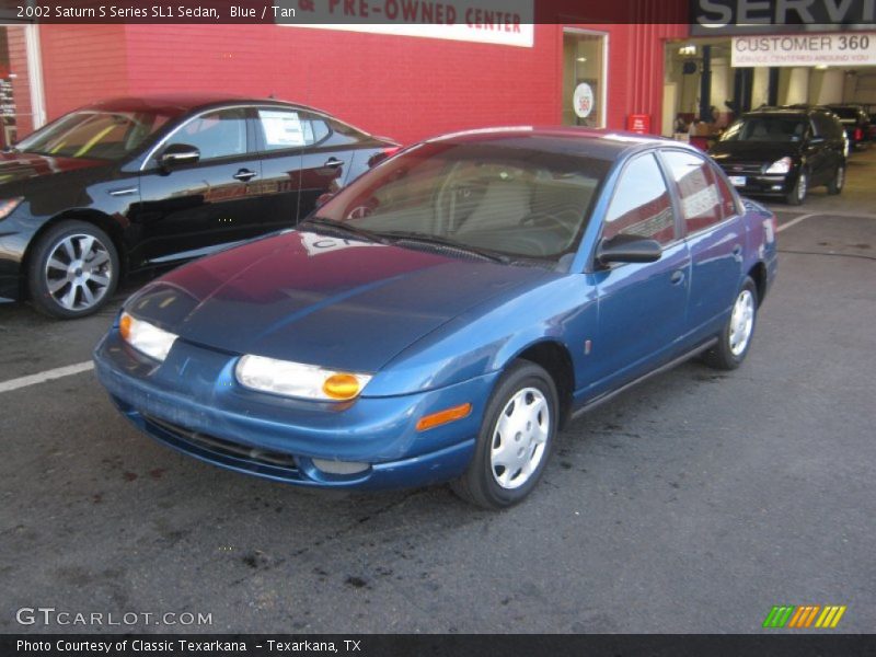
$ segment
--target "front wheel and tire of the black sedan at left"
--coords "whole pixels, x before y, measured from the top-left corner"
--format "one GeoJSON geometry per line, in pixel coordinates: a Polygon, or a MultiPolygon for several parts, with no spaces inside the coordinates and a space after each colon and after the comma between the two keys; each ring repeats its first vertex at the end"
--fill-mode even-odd
{"type": "Polygon", "coordinates": [[[34,246],[27,266],[31,303],[53,318],[83,318],[110,300],[118,276],[118,253],[104,231],[61,221],[34,246]]]}

